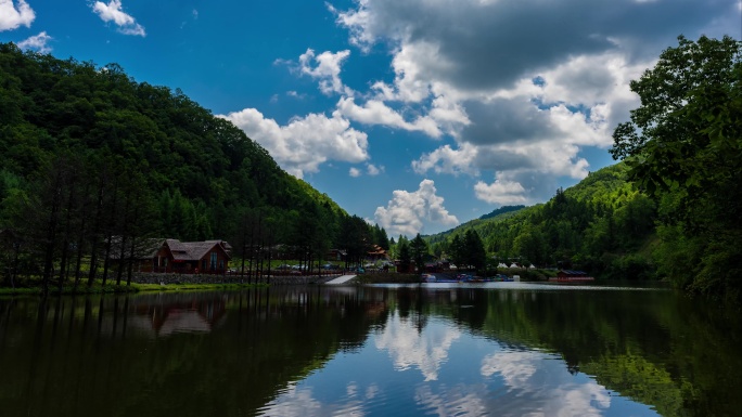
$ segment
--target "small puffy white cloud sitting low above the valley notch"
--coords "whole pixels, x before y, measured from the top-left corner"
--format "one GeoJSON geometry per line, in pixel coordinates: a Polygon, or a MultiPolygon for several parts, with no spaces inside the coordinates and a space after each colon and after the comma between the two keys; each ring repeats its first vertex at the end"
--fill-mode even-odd
{"type": "Polygon", "coordinates": [[[459,219],[444,207],[444,198],[436,195],[435,183],[423,180],[414,192],[396,190],[386,207],[378,207],[374,213],[376,223],[389,235],[414,236],[425,222],[436,225],[455,226],[459,219]]]}

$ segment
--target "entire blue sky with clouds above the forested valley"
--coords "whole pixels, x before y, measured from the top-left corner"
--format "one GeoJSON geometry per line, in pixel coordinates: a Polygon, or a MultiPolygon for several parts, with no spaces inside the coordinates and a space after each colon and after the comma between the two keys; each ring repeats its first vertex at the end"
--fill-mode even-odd
{"type": "Polygon", "coordinates": [[[391,236],[613,164],[628,89],[739,0],[0,0],[0,41],[180,88],[391,236]]]}

